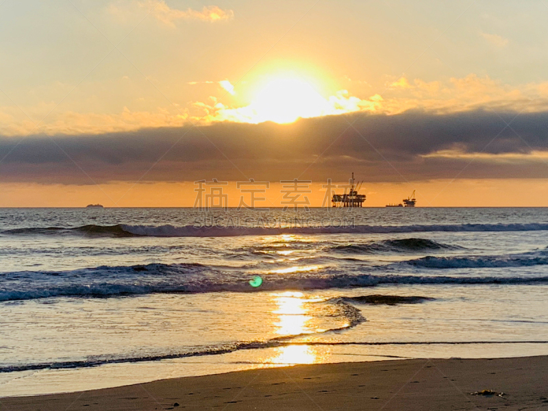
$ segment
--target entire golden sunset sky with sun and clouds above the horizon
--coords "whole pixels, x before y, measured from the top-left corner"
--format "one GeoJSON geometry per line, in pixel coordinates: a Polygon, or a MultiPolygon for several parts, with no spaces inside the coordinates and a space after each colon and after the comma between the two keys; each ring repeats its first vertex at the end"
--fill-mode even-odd
{"type": "Polygon", "coordinates": [[[0,0],[0,206],[548,206],[547,1],[0,0]]]}

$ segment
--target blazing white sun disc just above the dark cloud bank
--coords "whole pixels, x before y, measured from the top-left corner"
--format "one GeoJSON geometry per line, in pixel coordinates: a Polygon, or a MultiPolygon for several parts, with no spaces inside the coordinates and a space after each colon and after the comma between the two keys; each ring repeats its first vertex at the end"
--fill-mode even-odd
{"type": "Polygon", "coordinates": [[[329,112],[329,102],[301,79],[273,79],[259,90],[250,108],[258,122],[292,123],[329,112]]]}

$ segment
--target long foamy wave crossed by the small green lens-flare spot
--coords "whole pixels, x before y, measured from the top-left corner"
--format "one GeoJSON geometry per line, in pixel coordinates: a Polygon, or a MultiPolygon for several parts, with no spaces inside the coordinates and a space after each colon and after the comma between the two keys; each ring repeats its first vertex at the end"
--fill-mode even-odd
{"type": "MultiPolygon", "coordinates": [[[[420,261],[420,260],[419,260],[420,261]]],[[[349,275],[334,269],[314,273],[267,274],[253,288],[249,273],[201,264],[102,266],[58,272],[2,273],[0,301],[46,297],[119,297],[152,293],[321,290],[397,284],[548,284],[548,276],[349,275]]]]}

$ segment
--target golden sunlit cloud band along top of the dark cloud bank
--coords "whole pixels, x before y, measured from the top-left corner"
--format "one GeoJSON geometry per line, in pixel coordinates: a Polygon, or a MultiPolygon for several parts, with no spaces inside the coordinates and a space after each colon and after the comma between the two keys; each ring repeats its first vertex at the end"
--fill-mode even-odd
{"type": "MultiPolygon", "coordinates": [[[[227,81],[189,82],[188,84],[216,84],[224,90],[235,93],[233,85],[227,81]]],[[[466,77],[450,78],[446,81],[426,82],[423,79],[401,77],[388,83],[398,84],[380,90],[382,95],[369,97],[352,95],[349,90],[339,90],[334,95],[314,97],[314,104],[299,101],[295,98],[277,95],[282,105],[288,101],[289,106],[306,108],[297,112],[297,117],[311,118],[353,112],[371,112],[375,114],[394,115],[407,110],[423,110],[434,114],[466,112],[481,108],[491,108],[496,112],[545,112],[548,111],[548,82],[530,83],[521,86],[510,86],[488,76],[479,77],[469,74],[466,77]]],[[[234,105],[226,99],[208,97],[190,103],[180,112],[171,105],[160,108],[144,108],[132,111],[124,108],[121,112],[97,113],[67,110],[60,112],[53,102],[42,102],[34,106],[21,108],[38,123],[51,112],[40,125],[35,124],[16,106],[0,106],[0,135],[18,136],[30,132],[36,134],[100,134],[104,132],[134,131],[151,127],[179,127],[188,123],[199,122],[201,125],[220,121],[236,123],[262,123],[275,120],[269,117],[267,101],[261,104],[253,101],[234,105]]]]}

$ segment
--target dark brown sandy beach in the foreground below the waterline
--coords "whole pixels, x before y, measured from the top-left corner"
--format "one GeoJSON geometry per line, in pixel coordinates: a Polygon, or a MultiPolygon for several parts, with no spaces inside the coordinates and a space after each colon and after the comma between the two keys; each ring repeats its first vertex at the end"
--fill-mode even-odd
{"type": "Polygon", "coordinates": [[[303,365],[0,399],[2,411],[474,409],[548,410],[548,357],[303,365]],[[471,395],[481,390],[504,394],[471,395]]]}

